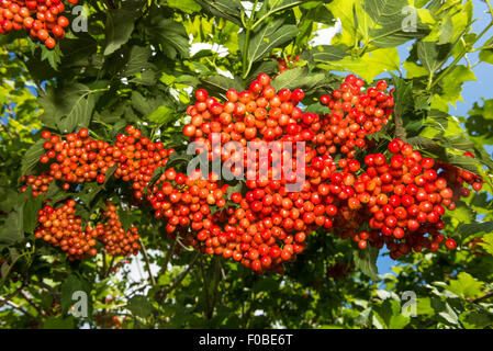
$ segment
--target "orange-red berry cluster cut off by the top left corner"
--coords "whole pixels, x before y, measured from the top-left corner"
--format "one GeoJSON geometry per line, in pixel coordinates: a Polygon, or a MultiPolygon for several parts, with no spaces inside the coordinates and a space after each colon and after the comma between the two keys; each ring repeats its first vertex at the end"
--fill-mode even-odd
{"type": "MultiPolygon", "coordinates": [[[[78,0],[67,0],[76,4],[78,0]]],[[[24,30],[33,41],[40,41],[47,48],[65,37],[69,25],[63,0],[0,0],[0,34],[24,30]]]]}

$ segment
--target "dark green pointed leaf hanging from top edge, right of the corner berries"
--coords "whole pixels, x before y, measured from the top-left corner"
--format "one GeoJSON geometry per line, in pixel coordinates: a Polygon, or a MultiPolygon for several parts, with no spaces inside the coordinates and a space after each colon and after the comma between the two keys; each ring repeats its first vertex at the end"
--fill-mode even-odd
{"type": "Polygon", "coordinates": [[[107,12],[104,56],[113,54],[128,42],[142,7],[143,2],[128,0],[123,2],[121,9],[107,12]]]}

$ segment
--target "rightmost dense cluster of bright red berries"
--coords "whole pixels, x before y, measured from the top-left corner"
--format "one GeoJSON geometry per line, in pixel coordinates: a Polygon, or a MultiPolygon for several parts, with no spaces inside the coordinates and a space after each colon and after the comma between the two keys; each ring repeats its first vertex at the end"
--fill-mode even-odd
{"type": "MultiPolygon", "coordinates": [[[[440,163],[424,158],[400,139],[392,140],[388,148],[392,157],[367,155],[366,168],[357,177],[333,173],[332,184],[344,182],[352,188],[344,219],[338,218],[337,234],[351,237],[361,249],[367,242],[377,248],[386,245],[393,259],[423,248],[436,251],[444,240],[440,217],[445,207],[455,208],[453,191],[440,177],[440,163]],[[359,230],[363,224],[369,230],[359,230]]],[[[449,238],[446,246],[455,249],[456,242],[449,238]]]]}

